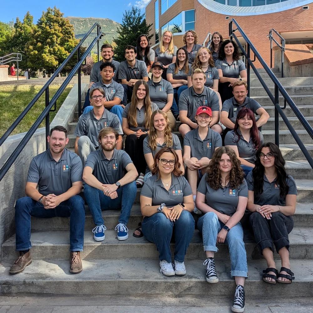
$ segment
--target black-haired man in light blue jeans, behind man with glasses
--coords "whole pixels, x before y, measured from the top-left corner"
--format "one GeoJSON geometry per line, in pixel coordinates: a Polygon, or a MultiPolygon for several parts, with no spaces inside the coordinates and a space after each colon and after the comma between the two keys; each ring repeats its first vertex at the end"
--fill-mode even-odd
{"type": "MultiPolygon", "coordinates": [[[[100,65],[101,80],[90,87],[90,92],[95,88],[102,89],[105,93],[104,107],[116,114],[122,124],[122,114],[125,105],[121,104],[124,97],[124,88],[121,84],[113,80],[115,66],[113,63],[106,62],[100,65]]],[[[92,110],[92,106],[87,106],[83,114],[92,110]]]]}

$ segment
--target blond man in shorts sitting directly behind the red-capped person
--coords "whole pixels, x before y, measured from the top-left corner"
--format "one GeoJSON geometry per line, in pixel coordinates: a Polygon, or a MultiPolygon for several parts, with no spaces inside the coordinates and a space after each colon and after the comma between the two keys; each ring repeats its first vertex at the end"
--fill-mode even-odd
{"type": "Polygon", "coordinates": [[[222,132],[219,122],[218,96],[215,91],[204,86],[206,76],[202,69],[195,69],[191,75],[192,86],[184,90],[179,98],[179,119],[182,124],[179,131],[184,137],[188,131],[198,127],[195,116],[199,106],[208,106],[212,110],[212,121],[210,128],[222,132]]]}

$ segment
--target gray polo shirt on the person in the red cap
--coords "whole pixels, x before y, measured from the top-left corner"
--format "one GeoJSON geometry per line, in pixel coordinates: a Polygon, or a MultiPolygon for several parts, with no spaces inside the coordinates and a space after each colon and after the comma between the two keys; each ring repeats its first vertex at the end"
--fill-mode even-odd
{"type": "Polygon", "coordinates": [[[223,146],[221,135],[208,128],[208,134],[202,141],[198,128],[188,131],[184,137],[184,146],[190,147],[190,157],[200,160],[202,157],[212,159],[215,148],[223,146]]]}

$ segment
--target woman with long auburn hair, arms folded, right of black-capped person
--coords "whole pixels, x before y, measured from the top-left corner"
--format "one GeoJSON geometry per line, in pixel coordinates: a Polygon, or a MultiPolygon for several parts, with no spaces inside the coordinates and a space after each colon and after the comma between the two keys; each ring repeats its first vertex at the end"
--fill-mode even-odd
{"type": "Polygon", "coordinates": [[[189,73],[188,53],[185,48],[179,48],[176,53],[175,63],[171,63],[167,68],[167,81],[174,89],[174,99],[171,107],[176,120],[179,120],[178,102],[182,91],[188,88],[187,77],[189,73]]]}

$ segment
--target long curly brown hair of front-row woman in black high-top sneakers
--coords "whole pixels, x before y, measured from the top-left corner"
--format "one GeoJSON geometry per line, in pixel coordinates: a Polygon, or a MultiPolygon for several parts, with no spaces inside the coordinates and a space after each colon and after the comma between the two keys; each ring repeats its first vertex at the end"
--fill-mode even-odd
{"type": "Polygon", "coordinates": [[[236,153],[227,147],[220,147],[213,153],[207,171],[207,182],[214,190],[218,190],[222,183],[219,162],[221,160],[222,154],[224,153],[229,156],[230,161],[232,162],[232,169],[229,173],[230,187],[238,188],[244,181],[244,172],[240,167],[240,161],[238,160],[236,153]]]}

